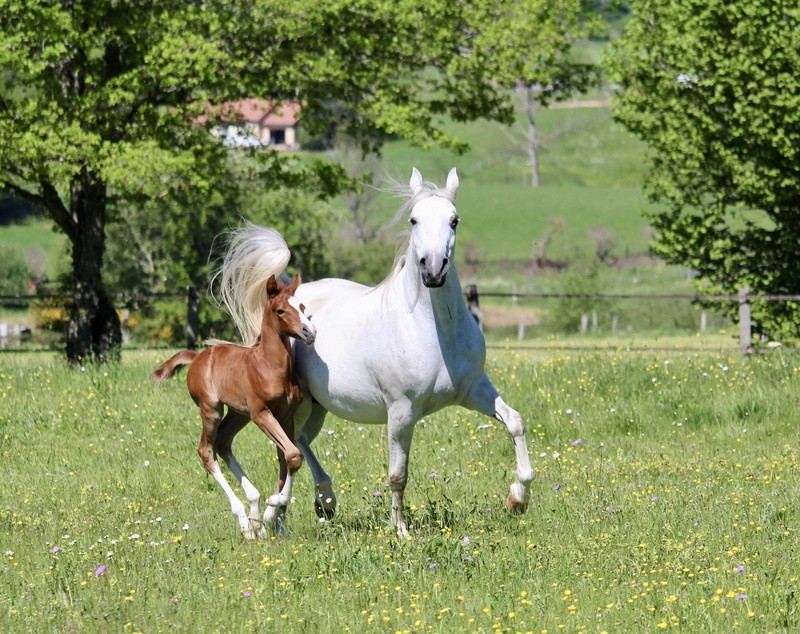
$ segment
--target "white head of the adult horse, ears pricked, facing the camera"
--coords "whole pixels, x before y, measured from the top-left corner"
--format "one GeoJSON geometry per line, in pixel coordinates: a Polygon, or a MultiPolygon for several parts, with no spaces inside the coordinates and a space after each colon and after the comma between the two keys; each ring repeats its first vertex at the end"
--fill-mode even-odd
{"type": "Polygon", "coordinates": [[[456,245],[456,168],[447,175],[444,189],[431,189],[425,187],[422,174],[415,167],[409,187],[414,201],[409,216],[412,255],[422,283],[428,288],[438,288],[447,279],[456,245]]]}

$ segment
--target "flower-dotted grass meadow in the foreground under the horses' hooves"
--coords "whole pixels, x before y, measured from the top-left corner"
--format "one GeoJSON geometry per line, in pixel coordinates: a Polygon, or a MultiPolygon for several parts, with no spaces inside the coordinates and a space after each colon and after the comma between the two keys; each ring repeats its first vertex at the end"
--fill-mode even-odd
{"type": "MultiPolygon", "coordinates": [[[[503,507],[506,432],[450,409],[418,426],[398,542],[385,429],[330,419],[336,518],[317,521],[304,467],[288,534],[260,543],[200,466],[182,381],[150,384],[165,356],[0,357],[2,631],[800,627],[796,354],[493,349],[538,474],[526,515],[503,507]]],[[[237,443],[270,490],[268,441],[237,443]]]]}

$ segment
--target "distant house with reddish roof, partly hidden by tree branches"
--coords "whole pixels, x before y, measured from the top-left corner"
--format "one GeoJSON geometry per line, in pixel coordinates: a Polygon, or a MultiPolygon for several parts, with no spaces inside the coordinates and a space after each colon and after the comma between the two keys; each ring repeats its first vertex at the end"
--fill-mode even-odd
{"type": "MultiPolygon", "coordinates": [[[[213,134],[229,147],[269,146],[276,150],[296,150],[300,104],[274,103],[249,98],[228,101],[221,106],[209,105],[216,123],[213,134]]],[[[197,118],[204,125],[208,116],[197,118]]]]}

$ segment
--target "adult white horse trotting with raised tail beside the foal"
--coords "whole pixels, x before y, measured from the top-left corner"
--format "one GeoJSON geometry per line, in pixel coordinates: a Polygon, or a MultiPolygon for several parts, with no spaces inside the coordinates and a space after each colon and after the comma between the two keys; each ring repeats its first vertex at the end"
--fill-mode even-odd
{"type": "MultiPolygon", "coordinates": [[[[413,170],[409,200],[399,212],[410,210],[408,248],[378,286],[323,279],[297,289],[317,328],[313,347],[294,347],[300,384],[313,397],[311,411],[306,407],[295,424],[320,516],[331,517],[336,509],[331,479],[310,446],[327,412],[356,423],[386,423],[392,522],[404,538],[403,493],[414,426],[448,405],[505,424],[517,461],[506,504],[515,512],[527,507],[534,472],[523,421],[484,372],[486,344],[454,266],[457,189],[455,168],[444,188],[424,183],[413,170]]],[[[260,329],[265,281],[288,259],[286,243],[272,229],[247,225],[234,234],[221,269],[221,296],[246,343],[260,329]]]]}

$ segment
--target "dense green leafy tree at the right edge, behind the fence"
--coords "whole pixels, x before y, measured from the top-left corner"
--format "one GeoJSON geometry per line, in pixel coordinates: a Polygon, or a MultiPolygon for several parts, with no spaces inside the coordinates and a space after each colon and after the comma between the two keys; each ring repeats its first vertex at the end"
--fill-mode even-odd
{"type": "MultiPolygon", "coordinates": [[[[800,292],[800,6],[631,5],[609,69],[617,120],[649,147],[656,252],[703,291],[800,292]]],[[[753,313],[765,334],[800,336],[796,305],[753,313]]]]}

